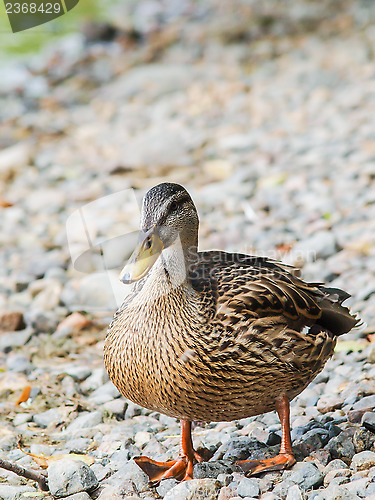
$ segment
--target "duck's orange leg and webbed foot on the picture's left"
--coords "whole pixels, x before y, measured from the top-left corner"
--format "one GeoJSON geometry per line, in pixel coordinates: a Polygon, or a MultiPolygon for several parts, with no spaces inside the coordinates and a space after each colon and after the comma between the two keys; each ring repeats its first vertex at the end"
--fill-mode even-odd
{"type": "Polygon", "coordinates": [[[177,460],[156,462],[148,457],[135,457],[135,463],[150,478],[150,485],[157,486],[162,479],[174,477],[179,481],[193,479],[193,467],[203,458],[194,450],[191,438],[191,422],[181,420],[180,455],[177,460]]]}

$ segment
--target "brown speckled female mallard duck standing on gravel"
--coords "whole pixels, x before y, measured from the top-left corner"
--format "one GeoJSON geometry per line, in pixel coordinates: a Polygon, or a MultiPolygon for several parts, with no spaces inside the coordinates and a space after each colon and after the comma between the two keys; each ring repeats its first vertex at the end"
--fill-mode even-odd
{"type": "Polygon", "coordinates": [[[305,283],[264,257],[198,252],[198,215],[187,191],[159,184],[146,194],[140,240],[121,280],[132,291],[114,316],[104,348],[118,390],[181,420],[178,460],[136,463],[153,484],[191,479],[202,457],[191,421],[229,421],[276,409],[279,455],[244,460],[245,471],[295,463],[289,401],[319,373],[336,336],[356,324],[339,289],[305,283]]]}

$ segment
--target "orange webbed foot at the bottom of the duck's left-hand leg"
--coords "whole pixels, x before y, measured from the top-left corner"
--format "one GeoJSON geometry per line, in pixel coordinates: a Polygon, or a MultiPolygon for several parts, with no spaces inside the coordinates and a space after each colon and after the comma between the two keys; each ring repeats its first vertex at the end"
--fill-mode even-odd
{"type": "Polygon", "coordinates": [[[193,468],[195,462],[201,462],[202,457],[198,453],[188,456],[180,456],[178,460],[169,462],[156,462],[148,457],[135,457],[134,462],[140,467],[150,479],[150,486],[157,486],[162,479],[175,478],[178,481],[193,479],[193,468]]]}

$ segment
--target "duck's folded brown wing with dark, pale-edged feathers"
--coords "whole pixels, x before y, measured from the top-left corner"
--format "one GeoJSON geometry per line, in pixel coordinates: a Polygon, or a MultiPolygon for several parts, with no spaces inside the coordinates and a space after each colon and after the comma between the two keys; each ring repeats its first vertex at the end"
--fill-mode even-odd
{"type": "MultiPolygon", "coordinates": [[[[265,257],[221,251],[200,252],[192,283],[210,291],[216,311],[233,322],[244,318],[278,317],[288,328],[301,331],[317,325],[332,337],[349,332],[359,323],[342,303],[343,290],[298,278],[291,266],[265,257]]],[[[312,333],[312,332],[310,332],[312,333]]]]}

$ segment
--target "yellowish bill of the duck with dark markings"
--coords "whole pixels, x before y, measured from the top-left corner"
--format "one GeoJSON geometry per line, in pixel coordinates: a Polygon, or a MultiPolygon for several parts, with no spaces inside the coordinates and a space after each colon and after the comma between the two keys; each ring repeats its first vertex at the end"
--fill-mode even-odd
{"type": "Polygon", "coordinates": [[[120,280],[125,283],[134,283],[149,272],[157,261],[164,245],[152,228],[147,233],[139,233],[139,241],[128,262],[120,273],[120,280]]]}

